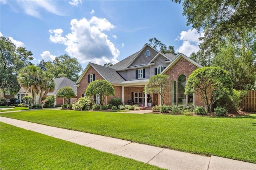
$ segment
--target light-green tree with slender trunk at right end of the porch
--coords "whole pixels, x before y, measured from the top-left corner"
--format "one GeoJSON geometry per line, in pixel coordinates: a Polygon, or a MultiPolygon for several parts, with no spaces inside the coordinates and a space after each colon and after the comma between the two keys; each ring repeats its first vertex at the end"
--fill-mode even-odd
{"type": "Polygon", "coordinates": [[[144,88],[145,93],[160,95],[160,105],[164,105],[164,96],[170,86],[168,75],[154,75],[148,80],[148,85],[144,88]]]}

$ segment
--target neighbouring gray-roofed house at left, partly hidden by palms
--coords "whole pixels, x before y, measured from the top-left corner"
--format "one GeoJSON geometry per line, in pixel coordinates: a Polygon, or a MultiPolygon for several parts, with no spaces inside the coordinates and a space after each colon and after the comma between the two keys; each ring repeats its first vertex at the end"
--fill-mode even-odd
{"type": "MultiPolygon", "coordinates": [[[[66,103],[66,101],[64,101],[64,99],[62,97],[56,97],[57,91],[62,87],[72,87],[77,95],[77,87],[74,86],[75,82],[68,79],[67,77],[56,78],[56,79],[54,79],[54,83],[55,83],[54,92],[47,93],[47,95],[46,95],[46,97],[48,97],[48,96],[54,97],[54,99],[55,99],[54,105],[63,105],[64,103],[66,103]]],[[[30,89],[28,89],[26,91],[23,87],[20,88],[20,91],[18,92],[18,94],[21,95],[21,99],[24,96],[32,96],[30,89]]],[[[39,94],[36,95],[36,104],[41,104],[41,103],[38,103],[38,100],[39,100],[39,94]]],[[[77,97],[74,97],[70,100],[70,103],[73,103],[76,101],[77,101],[77,97]]],[[[21,100],[20,100],[20,102],[21,102],[21,100]]]]}

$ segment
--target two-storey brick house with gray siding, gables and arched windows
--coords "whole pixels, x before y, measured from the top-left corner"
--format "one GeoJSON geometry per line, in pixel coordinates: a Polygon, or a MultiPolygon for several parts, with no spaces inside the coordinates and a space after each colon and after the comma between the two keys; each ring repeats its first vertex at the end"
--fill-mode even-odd
{"type": "MultiPolygon", "coordinates": [[[[78,98],[84,96],[88,84],[97,79],[109,81],[115,90],[115,97],[121,98],[124,104],[136,103],[147,106],[149,97],[153,105],[160,105],[160,96],[144,93],[150,77],[156,74],[169,75],[170,88],[164,98],[165,105],[204,105],[202,99],[195,94],[185,95],[184,87],[188,76],[202,67],[186,55],[163,54],[148,43],[144,47],[122,61],[104,67],[89,63],[76,82],[78,98]]],[[[109,96],[103,103],[109,103],[109,96]]],[[[94,99],[98,103],[98,98],[94,99]]]]}

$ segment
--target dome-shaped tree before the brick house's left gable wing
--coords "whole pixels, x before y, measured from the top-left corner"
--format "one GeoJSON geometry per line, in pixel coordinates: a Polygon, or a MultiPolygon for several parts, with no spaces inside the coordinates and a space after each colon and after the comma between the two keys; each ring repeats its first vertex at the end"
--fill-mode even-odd
{"type": "Polygon", "coordinates": [[[103,102],[106,96],[115,95],[113,86],[106,80],[95,80],[92,81],[86,91],[85,95],[87,96],[99,96],[100,104],[103,105],[103,102]]]}

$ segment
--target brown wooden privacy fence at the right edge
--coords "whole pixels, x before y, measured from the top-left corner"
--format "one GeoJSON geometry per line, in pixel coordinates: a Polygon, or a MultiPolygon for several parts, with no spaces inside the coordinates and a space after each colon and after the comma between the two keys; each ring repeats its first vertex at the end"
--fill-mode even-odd
{"type": "Polygon", "coordinates": [[[241,108],[242,111],[256,111],[256,90],[248,90],[248,94],[242,100],[241,108]]]}

